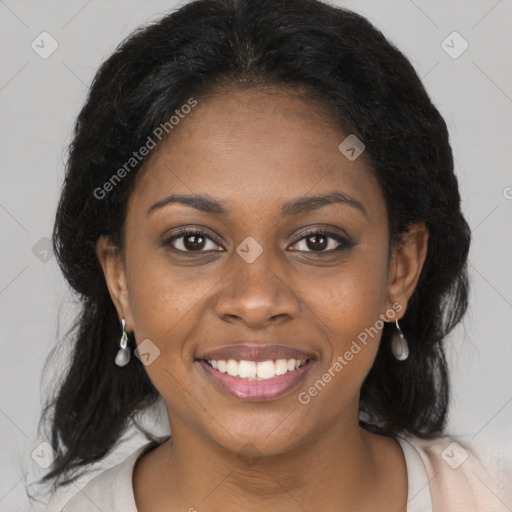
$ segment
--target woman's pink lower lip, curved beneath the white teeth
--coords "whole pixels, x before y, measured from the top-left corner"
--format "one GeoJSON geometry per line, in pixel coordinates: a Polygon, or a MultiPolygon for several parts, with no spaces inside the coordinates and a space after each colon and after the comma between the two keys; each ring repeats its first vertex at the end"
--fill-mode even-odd
{"type": "Polygon", "coordinates": [[[278,398],[298,386],[305,378],[306,372],[313,362],[309,359],[300,368],[286,372],[283,375],[276,375],[271,379],[248,380],[240,377],[232,377],[227,373],[221,373],[211,367],[206,361],[197,361],[206,375],[213,380],[217,386],[231,396],[241,400],[270,400],[278,398]]]}

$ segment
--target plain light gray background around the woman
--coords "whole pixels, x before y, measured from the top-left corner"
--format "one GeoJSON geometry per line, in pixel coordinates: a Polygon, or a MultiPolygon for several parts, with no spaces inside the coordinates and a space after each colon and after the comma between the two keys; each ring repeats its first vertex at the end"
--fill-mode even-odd
{"type": "MultiPolygon", "coordinates": [[[[336,4],[367,16],[410,58],[448,123],[473,231],[471,305],[447,344],[448,432],[510,463],[512,2],[336,4]],[[457,58],[442,45],[453,31],[469,44],[457,58]]],[[[24,482],[42,474],[31,457],[46,441],[36,432],[42,384],[55,381],[65,352],[41,380],[43,363],[76,311],[55,258],[45,255],[74,119],[99,64],[134,28],[175,5],[0,0],[0,510],[27,509],[24,482]],[[46,59],[31,47],[34,40],[42,45],[43,31],[58,43],[46,59]]],[[[457,52],[462,41],[451,36],[446,45],[457,52]]],[[[159,428],[166,428],[164,417],[159,428]]],[[[105,465],[141,442],[133,437],[105,465]]]]}

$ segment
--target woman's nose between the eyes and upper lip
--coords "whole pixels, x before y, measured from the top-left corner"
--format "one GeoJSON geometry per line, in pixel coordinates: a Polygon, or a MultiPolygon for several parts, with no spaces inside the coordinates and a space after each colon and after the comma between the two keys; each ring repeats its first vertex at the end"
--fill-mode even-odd
{"type": "Polygon", "coordinates": [[[264,250],[251,263],[237,253],[232,258],[230,271],[216,296],[215,312],[219,318],[259,329],[297,317],[299,300],[270,251],[264,250]]]}

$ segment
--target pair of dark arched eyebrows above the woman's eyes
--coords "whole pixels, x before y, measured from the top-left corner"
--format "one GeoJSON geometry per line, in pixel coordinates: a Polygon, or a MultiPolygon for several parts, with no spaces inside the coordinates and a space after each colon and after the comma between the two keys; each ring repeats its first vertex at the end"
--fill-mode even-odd
{"type": "MultiPolygon", "coordinates": [[[[155,204],[153,204],[147,211],[147,215],[173,203],[191,206],[196,210],[221,217],[226,217],[231,213],[229,208],[223,206],[217,200],[208,196],[195,194],[172,194],[169,197],[165,197],[164,199],[161,199],[160,201],[157,201],[155,204]]],[[[339,191],[316,196],[302,196],[288,201],[281,207],[281,215],[283,217],[291,217],[293,215],[299,215],[301,213],[317,210],[330,204],[340,203],[351,206],[359,210],[363,215],[367,215],[366,210],[360,201],[339,191]]]]}

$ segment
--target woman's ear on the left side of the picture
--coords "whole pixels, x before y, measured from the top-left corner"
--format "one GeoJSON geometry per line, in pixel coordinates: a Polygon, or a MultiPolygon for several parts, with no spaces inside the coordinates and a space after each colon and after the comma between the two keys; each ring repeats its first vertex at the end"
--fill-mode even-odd
{"type": "Polygon", "coordinates": [[[100,262],[107,288],[119,316],[126,320],[126,331],[133,330],[133,318],[128,297],[128,287],[123,258],[119,248],[106,236],[96,242],[96,255],[100,262]]]}

